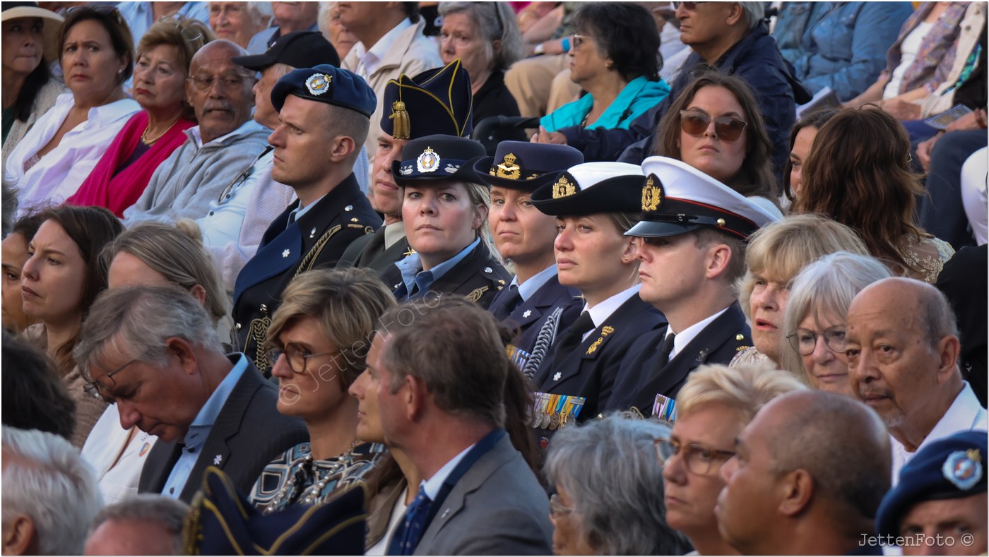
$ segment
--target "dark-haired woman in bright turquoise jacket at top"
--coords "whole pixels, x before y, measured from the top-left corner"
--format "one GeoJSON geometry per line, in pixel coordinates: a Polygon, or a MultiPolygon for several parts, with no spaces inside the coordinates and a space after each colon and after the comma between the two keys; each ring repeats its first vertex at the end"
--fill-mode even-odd
{"type": "Polygon", "coordinates": [[[587,3],[572,25],[570,79],[587,94],[540,119],[545,132],[570,125],[627,128],[670,94],[660,79],[660,34],[648,10],[630,2],[587,3]]]}

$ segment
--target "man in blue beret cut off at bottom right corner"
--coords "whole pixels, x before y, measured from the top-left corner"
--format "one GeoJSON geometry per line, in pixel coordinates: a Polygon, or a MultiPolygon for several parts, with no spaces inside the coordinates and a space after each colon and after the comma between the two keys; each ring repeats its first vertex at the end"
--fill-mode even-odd
{"type": "Polygon", "coordinates": [[[883,543],[904,555],[985,554],[987,435],[961,432],[917,451],[879,505],[883,543]]]}

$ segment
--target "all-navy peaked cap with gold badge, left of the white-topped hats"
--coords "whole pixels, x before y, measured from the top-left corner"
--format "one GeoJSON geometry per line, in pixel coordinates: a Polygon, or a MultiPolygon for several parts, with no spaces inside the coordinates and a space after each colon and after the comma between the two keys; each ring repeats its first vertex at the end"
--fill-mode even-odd
{"type": "Polygon", "coordinates": [[[501,141],[494,157],[479,160],[474,172],[489,186],[534,192],[583,162],[584,153],[570,145],[501,141]]]}

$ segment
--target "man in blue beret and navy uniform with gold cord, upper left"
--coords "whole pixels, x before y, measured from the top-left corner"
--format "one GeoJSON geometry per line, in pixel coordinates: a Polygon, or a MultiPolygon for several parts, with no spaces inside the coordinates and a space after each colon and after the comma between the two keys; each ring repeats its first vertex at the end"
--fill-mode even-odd
{"type": "Polygon", "coordinates": [[[275,147],[271,178],[299,199],[272,221],[233,293],[239,347],[265,373],[265,336],[285,286],[336,265],[351,242],[380,222],[353,175],[376,103],[367,83],[320,64],[279,79],[271,103],[281,122],[268,137],[275,147]]]}

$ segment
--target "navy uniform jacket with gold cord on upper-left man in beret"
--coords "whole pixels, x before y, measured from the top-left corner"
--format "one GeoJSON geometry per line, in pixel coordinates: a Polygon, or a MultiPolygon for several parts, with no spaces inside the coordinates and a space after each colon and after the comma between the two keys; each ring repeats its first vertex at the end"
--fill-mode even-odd
{"type": "Polygon", "coordinates": [[[353,174],[288,224],[298,204],[297,200],[272,221],[257,253],[237,276],[233,293],[238,346],[265,374],[268,362],[262,344],[285,287],[301,273],[335,266],[347,246],[373,232],[381,220],[353,174]]]}

